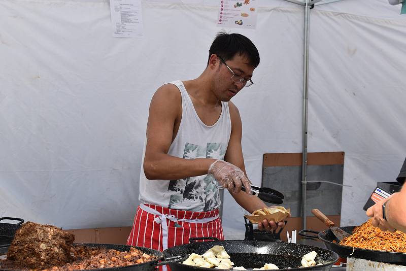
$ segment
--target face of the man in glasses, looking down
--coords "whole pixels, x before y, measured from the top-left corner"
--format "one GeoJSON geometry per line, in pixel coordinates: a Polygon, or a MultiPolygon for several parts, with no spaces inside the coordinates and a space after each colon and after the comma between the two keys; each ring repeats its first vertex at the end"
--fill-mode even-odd
{"type": "Polygon", "coordinates": [[[235,96],[251,79],[255,69],[249,64],[249,59],[245,55],[238,54],[226,61],[217,57],[216,65],[218,66],[215,74],[214,92],[221,101],[229,101],[235,96]],[[240,78],[245,80],[240,82],[240,78]]]}

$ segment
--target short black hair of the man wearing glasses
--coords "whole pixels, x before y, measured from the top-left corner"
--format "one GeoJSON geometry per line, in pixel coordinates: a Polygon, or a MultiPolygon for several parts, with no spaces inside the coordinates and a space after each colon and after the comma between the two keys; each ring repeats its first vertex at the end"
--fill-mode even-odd
{"type": "Polygon", "coordinates": [[[245,55],[254,68],[259,64],[258,49],[250,39],[238,33],[218,32],[210,46],[208,65],[212,54],[220,56],[224,61],[232,59],[236,54],[245,55]]]}

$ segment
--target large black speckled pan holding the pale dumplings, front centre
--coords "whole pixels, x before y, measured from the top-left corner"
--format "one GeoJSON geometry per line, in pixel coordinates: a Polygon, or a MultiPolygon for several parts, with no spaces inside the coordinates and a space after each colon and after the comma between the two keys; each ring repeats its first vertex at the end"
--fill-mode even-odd
{"type": "MultiPolygon", "coordinates": [[[[223,246],[225,251],[230,255],[230,260],[234,266],[244,266],[247,269],[260,268],[265,263],[276,264],[280,269],[291,267],[288,270],[323,270],[328,271],[332,264],[338,259],[336,253],[312,246],[291,244],[284,242],[260,242],[260,241],[210,241],[210,242],[193,242],[196,240],[216,240],[216,238],[191,238],[190,244],[175,246],[163,251],[165,257],[176,255],[185,255],[191,253],[204,254],[208,249],[215,245],[223,246]],[[322,263],[319,266],[295,268],[301,266],[301,259],[304,254],[311,251],[317,252],[316,262],[322,263]]],[[[173,271],[198,271],[213,270],[212,268],[203,268],[190,266],[182,263],[171,263],[173,271]]],[[[222,269],[215,269],[222,270],[222,269]]]]}

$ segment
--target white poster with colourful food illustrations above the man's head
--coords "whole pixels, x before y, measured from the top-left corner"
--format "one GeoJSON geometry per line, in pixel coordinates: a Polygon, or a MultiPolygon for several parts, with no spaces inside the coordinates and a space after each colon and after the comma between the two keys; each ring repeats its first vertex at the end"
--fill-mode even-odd
{"type": "Polygon", "coordinates": [[[217,26],[255,29],[258,0],[219,0],[217,26]]]}

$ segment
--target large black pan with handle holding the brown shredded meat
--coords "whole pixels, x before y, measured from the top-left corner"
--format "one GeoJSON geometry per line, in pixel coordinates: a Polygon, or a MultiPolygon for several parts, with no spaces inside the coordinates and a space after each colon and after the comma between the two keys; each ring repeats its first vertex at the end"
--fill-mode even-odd
{"type": "MultiPolygon", "coordinates": [[[[74,244],[74,245],[87,246],[87,247],[91,247],[91,248],[115,249],[118,251],[129,251],[131,248],[131,246],[113,245],[113,244],[74,244]]],[[[155,259],[153,261],[145,262],[145,263],[140,263],[140,264],[133,264],[133,265],[127,265],[127,266],[121,266],[121,267],[89,269],[89,270],[91,270],[91,271],[113,271],[113,270],[153,271],[153,270],[155,270],[156,266],[169,264],[172,262],[182,262],[188,258],[188,255],[177,255],[176,257],[166,257],[164,259],[163,253],[158,250],[150,249],[150,248],[143,248],[143,247],[136,247],[136,246],[132,246],[132,247],[137,248],[148,255],[154,255],[157,257],[157,259],[155,259]]],[[[7,251],[5,252],[5,249],[8,250],[8,248],[3,248],[3,252],[7,253],[7,251]]],[[[87,270],[87,269],[84,269],[84,270],[87,270]]],[[[9,269],[0,268],[0,271],[9,271],[9,269]]]]}

